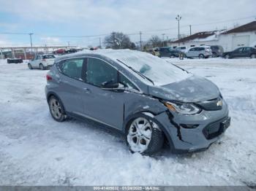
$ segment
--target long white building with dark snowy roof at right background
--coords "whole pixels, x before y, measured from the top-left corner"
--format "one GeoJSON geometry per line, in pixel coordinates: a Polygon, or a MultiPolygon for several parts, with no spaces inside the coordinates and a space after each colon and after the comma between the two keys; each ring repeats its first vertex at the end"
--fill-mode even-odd
{"type": "Polygon", "coordinates": [[[168,44],[171,47],[200,45],[221,45],[224,51],[231,51],[237,47],[256,46],[256,21],[228,31],[204,31],[168,44]]]}

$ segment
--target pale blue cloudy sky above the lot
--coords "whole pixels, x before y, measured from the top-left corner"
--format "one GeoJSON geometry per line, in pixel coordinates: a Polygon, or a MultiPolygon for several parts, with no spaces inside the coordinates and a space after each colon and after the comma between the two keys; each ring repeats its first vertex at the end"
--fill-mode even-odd
{"type": "Polygon", "coordinates": [[[104,35],[121,31],[131,34],[134,42],[146,41],[151,35],[165,38],[178,36],[176,15],[181,15],[181,34],[232,28],[256,19],[255,0],[0,0],[0,46],[29,45],[34,33],[37,45],[93,45],[104,35]],[[227,20],[226,22],[223,22],[227,20]]]}

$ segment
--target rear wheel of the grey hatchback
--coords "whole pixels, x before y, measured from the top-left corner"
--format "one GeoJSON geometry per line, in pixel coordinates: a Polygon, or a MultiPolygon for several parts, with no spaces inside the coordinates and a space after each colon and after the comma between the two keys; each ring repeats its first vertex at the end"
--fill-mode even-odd
{"type": "Polygon", "coordinates": [[[50,109],[50,114],[53,117],[53,120],[57,122],[63,122],[66,119],[66,114],[64,111],[64,106],[61,104],[59,98],[51,95],[48,99],[48,106],[50,109]]]}

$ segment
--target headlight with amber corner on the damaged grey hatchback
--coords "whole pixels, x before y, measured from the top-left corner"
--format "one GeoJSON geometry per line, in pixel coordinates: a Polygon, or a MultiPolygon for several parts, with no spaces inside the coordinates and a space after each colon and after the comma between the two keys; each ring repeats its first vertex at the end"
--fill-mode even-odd
{"type": "Polygon", "coordinates": [[[201,112],[201,109],[195,106],[194,104],[174,104],[170,102],[165,102],[165,106],[173,112],[177,112],[178,114],[197,114],[201,112]]]}

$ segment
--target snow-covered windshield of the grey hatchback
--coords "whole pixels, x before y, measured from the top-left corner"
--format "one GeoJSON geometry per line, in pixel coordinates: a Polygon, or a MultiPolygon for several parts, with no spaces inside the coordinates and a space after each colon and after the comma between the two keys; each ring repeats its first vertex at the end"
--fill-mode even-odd
{"type": "MultiPolygon", "coordinates": [[[[165,59],[158,58],[147,52],[134,50],[108,50],[103,54],[115,61],[119,60],[136,71],[139,71],[141,74],[151,79],[154,82],[154,85],[167,85],[181,81],[192,75],[187,74],[186,71],[173,66],[171,63],[167,63],[165,59]]],[[[146,84],[152,85],[149,80],[142,80],[143,82],[146,82],[146,84]]]]}

